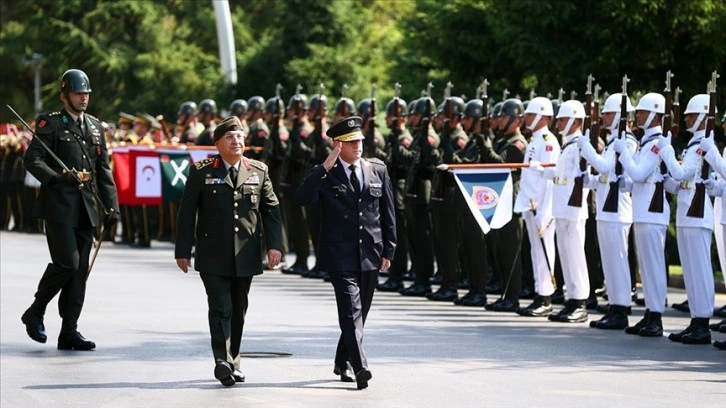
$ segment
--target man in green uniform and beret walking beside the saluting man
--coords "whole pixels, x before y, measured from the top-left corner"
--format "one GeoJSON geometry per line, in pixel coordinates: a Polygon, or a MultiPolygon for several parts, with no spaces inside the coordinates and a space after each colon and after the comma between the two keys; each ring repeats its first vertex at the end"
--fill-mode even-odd
{"type": "Polygon", "coordinates": [[[264,237],[270,267],[282,257],[282,221],[267,165],[243,157],[244,131],[236,116],[213,132],[219,154],[194,164],[184,187],[174,257],[204,283],[214,376],[224,386],[245,380],[240,344],[252,278],[262,273],[264,237]],[[264,233],[263,233],[264,231],[264,233]]]}

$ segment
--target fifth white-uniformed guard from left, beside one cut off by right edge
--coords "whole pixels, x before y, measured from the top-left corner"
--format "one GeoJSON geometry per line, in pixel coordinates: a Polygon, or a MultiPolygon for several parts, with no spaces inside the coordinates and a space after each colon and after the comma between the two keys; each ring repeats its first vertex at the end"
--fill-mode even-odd
{"type": "Polygon", "coordinates": [[[678,255],[683,266],[683,279],[686,284],[691,323],[679,332],[672,333],[668,339],[683,344],[710,344],[711,332],[708,321],[713,316],[715,291],[713,269],[711,267],[711,234],[713,233],[713,206],[710,199],[703,200],[703,216],[689,216],[689,209],[696,194],[696,184],[702,183],[701,139],[706,134],[706,115],[709,96],[696,95],[688,101],[685,114],[686,130],[692,133],[683,162],[676,160],[670,137],[659,142],[660,156],[668,166],[674,180],[680,182],[678,188],[678,211],[676,213],[676,236],[678,255]]]}

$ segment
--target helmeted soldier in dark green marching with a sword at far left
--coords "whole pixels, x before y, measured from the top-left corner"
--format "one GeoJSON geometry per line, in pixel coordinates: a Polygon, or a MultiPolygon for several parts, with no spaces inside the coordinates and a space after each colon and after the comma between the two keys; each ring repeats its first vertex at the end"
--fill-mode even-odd
{"type": "Polygon", "coordinates": [[[101,122],[85,113],[90,93],[91,85],[83,71],[66,71],[60,86],[64,108],[36,119],[36,135],[25,153],[25,168],[41,182],[33,215],[45,220],[52,262],[45,269],[35,301],[22,321],[30,338],[45,343],[43,315],[48,303],[60,292],[61,350],[96,348],[77,329],[86,295],[93,231],[102,221],[96,206],[110,214],[103,220],[106,228],[118,219],[116,185],[101,122]]]}

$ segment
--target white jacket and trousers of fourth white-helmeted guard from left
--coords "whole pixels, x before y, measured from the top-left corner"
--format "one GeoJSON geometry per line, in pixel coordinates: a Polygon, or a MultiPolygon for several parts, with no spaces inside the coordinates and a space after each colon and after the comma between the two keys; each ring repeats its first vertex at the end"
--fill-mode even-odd
{"type": "MultiPolygon", "coordinates": [[[[658,141],[663,136],[660,126],[645,130],[640,148],[635,154],[624,150],[620,163],[625,174],[633,180],[633,233],[640,265],[645,306],[652,312],[665,309],[667,282],[665,265],[665,236],[670,223],[671,209],[663,205],[663,212],[649,212],[655,182],[662,180],[658,141]]],[[[665,204],[665,192],[663,193],[665,204]]]]}

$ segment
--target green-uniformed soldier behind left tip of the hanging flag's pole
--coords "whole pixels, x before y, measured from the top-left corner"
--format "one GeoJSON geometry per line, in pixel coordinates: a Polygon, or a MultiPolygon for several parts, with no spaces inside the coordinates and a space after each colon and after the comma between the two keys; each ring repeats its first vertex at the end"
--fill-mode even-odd
{"type": "MultiPolygon", "coordinates": [[[[451,85],[451,83],[449,83],[451,85]]],[[[448,89],[447,89],[448,90],[448,89]]],[[[469,140],[461,127],[461,114],[464,100],[449,96],[444,100],[439,112],[441,118],[441,158],[438,164],[452,164],[454,154],[459,152],[469,140]]],[[[452,237],[460,236],[459,217],[461,206],[457,205],[461,193],[456,186],[454,175],[449,170],[436,170],[433,176],[431,203],[429,208],[434,223],[434,248],[436,262],[442,282],[439,289],[430,294],[429,300],[451,302],[458,299],[459,243],[452,237]]]]}

